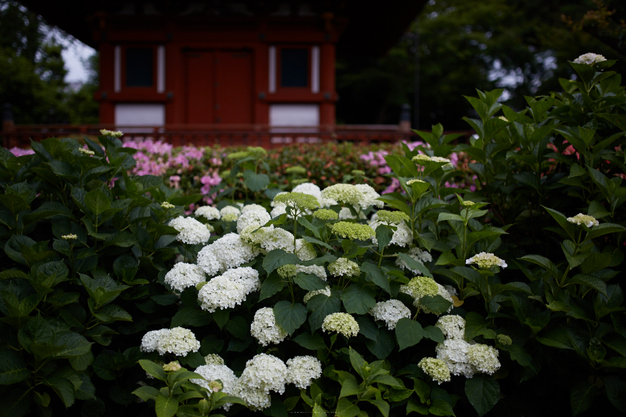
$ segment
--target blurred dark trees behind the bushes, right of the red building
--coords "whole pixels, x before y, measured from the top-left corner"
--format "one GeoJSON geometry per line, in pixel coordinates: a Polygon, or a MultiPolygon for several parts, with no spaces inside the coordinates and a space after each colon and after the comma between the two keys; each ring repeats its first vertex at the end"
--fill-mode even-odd
{"type": "Polygon", "coordinates": [[[524,96],[558,88],[559,77],[573,75],[567,61],[586,52],[622,59],[616,70],[623,72],[624,51],[616,49],[617,43],[596,38],[584,27],[572,30],[572,22],[600,5],[587,0],[562,3],[430,1],[385,57],[340,63],[339,122],[397,123],[403,103],[414,107],[418,65],[419,126],[414,117],[414,127],[442,123],[447,130],[468,127],[462,117],[472,115],[472,109],[464,95],[505,88],[506,104],[519,109],[524,96]]]}

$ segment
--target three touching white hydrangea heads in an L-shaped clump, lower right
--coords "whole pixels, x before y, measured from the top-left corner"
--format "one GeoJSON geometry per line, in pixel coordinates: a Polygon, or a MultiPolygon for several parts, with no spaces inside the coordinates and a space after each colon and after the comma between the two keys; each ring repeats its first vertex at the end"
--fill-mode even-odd
{"type": "Polygon", "coordinates": [[[437,359],[441,359],[454,375],[471,378],[475,373],[493,374],[500,369],[498,351],[473,341],[466,341],[465,319],[460,316],[441,317],[436,324],[445,336],[437,345],[437,359]]]}

